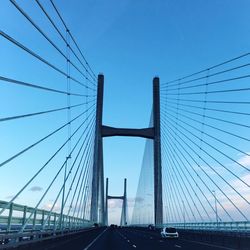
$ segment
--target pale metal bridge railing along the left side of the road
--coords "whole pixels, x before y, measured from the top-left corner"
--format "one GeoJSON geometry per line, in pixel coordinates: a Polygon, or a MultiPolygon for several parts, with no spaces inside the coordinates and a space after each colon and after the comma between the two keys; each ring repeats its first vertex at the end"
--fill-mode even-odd
{"type": "Polygon", "coordinates": [[[83,227],[91,227],[93,223],[89,220],[51,213],[43,209],[35,209],[28,206],[0,201],[0,210],[5,209],[0,215],[0,234],[18,232],[25,225],[25,231],[33,230],[75,230],[83,227]],[[7,206],[7,207],[6,207],[7,206]],[[33,214],[29,221],[27,218],[33,214]]]}

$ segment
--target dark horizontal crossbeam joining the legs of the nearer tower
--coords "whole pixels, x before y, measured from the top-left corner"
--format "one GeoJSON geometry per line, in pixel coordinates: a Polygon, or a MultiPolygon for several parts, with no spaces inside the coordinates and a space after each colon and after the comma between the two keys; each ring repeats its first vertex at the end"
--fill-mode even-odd
{"type": "Polygon", "coordinates": [[[129,129],[102,126],[102,137],[110,136],[136,136],[154,139],[154,128],[129,129]]]}

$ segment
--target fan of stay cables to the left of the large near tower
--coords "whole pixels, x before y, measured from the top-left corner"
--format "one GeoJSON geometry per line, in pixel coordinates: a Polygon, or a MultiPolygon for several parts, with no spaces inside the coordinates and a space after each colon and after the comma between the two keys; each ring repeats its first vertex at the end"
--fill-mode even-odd
{"type": "MultiPolygon", "coordinates": [[[[6,146],[0,170],[6,178],[13,170],[20,176],[16,185],[1,182],[1,189],[11,193],[6,193],[8,201],[1,205],[0,216],[11,218],[13,204],[20,202],[32,207],[32,211],[27,214],[23,211],[19,232],[38,227],[65,230],[73,225],[72,221],[78,224],[80,221],[81,227],[89,226],[96,75],[52,0],[46,5],[36,0],[35,4],[36,11],[54,33],[39,24],[34,13],[21,3],[15,0],[10,3],[10,8],[14,7],[23,23],[33,29],[43,47],[35,49],[22,36],[0,31],[1,42],[13,49],[12,55],[22,55],[25,63],[30,60],[27,62],[30,68],[22,72],[22,79],[18,74],[0,73],[4,100],[8,98],[6,93],[13,93],[14,97],[0,117],[2,135],[8,135],[2,140],[6,146]],[[47,49],[50,52],[46,56],[47,49]],[[33,68],[38,73],[33,74],[33,68]],[[42,73],[44,69],[48,72],[46,76],[42,73]],[[36,225],[36,216],[41,211],[42,222],[36,225]]],[[[11,231],[11,224],[6,230],[11,231]]]]}

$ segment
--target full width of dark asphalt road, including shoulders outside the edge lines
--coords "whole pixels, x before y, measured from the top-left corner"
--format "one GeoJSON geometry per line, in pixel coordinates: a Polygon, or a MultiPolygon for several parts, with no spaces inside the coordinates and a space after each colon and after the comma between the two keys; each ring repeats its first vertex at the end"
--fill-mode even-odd
{"type": "MultiPolygon", "coordinates": [[[[1,248],[1,246],[0,246],[1,248]]],[[[92,228],[85,232],[54,240],[44,240],[13,248],[15,250],[233,250],[195,240],[161,239],[157,231],[139,228],[92,228]]],[[[250,247],[244,248],[250,250],[250,247]]]]}

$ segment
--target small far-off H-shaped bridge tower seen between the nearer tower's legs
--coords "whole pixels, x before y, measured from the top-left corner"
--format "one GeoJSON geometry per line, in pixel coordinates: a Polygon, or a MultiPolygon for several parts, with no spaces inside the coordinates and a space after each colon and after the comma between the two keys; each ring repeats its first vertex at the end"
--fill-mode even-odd
{"type": "Polygon", "coordinates": [[[121,226],[127,225],[127,179],[124,179],[124,193],[122,196],[110,196],[108,194],[109,180],[106,178],[106,196],[105,196],[105,225],[108,225],[108,200],[118,199],[122,200],[122,214],[121,214],[121,226]]]}

